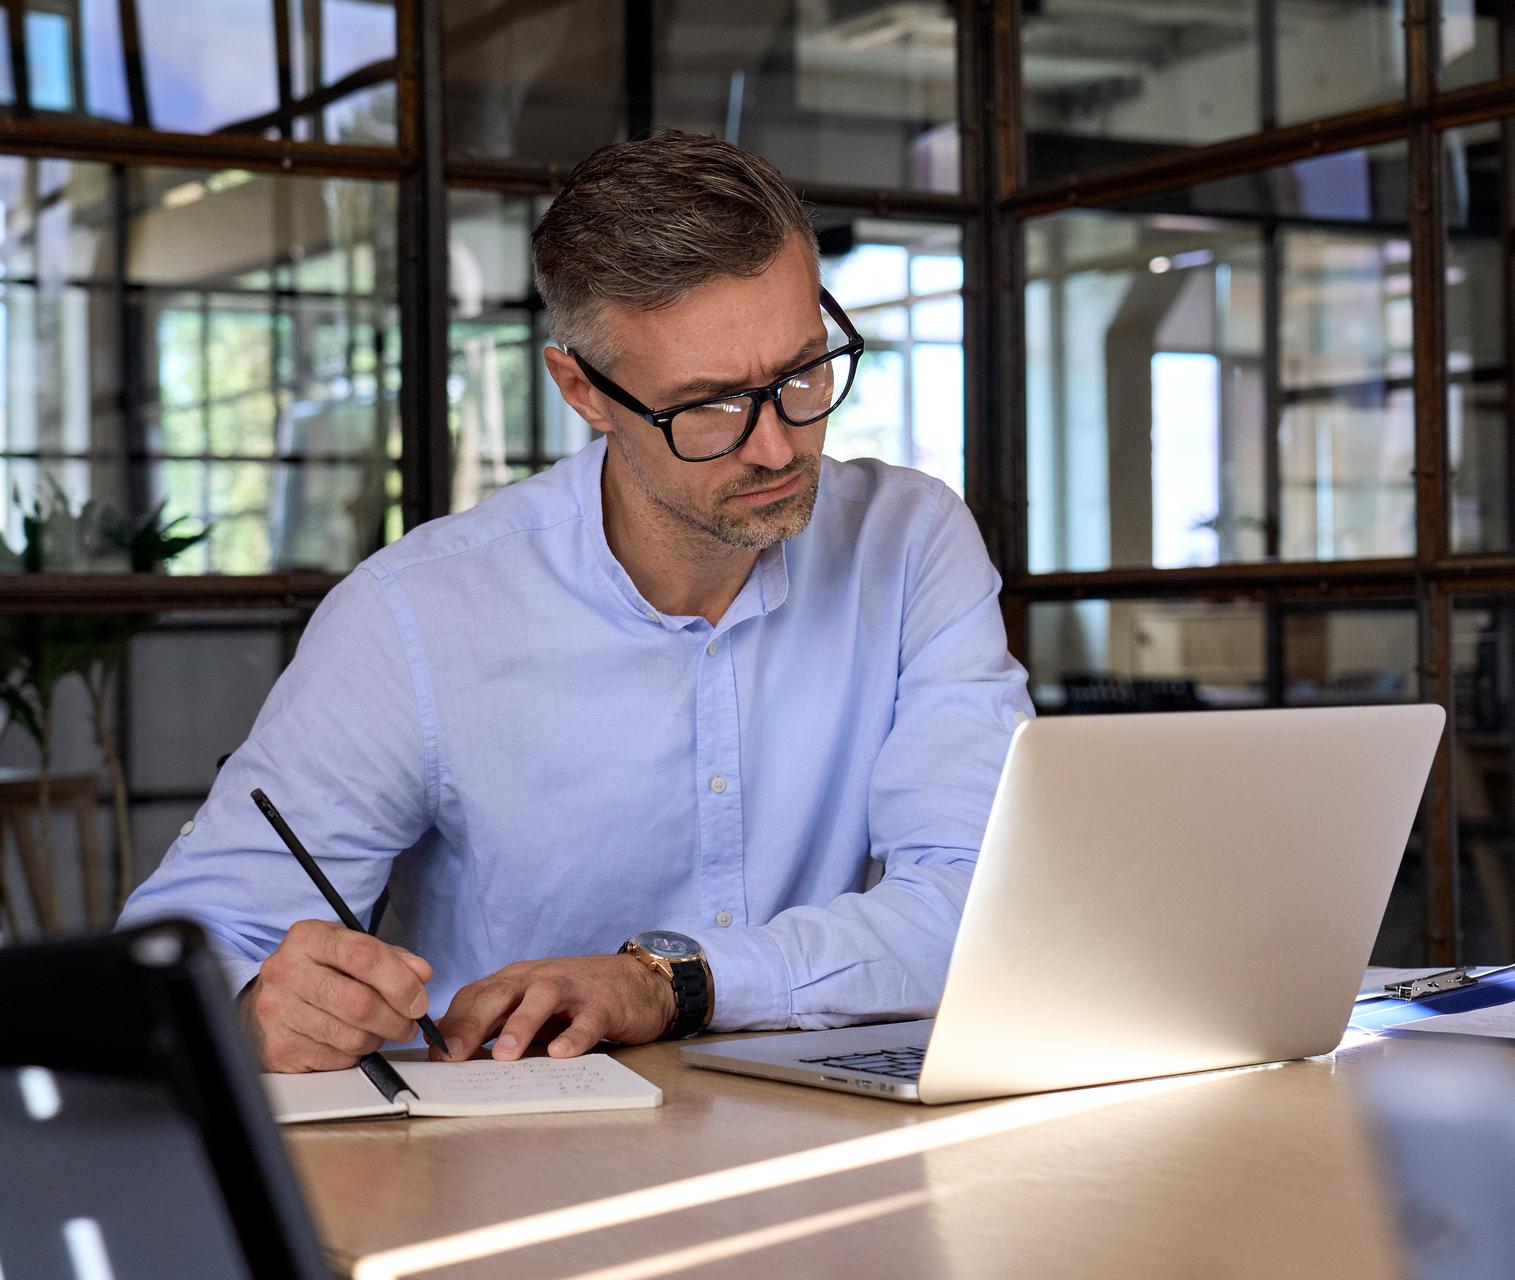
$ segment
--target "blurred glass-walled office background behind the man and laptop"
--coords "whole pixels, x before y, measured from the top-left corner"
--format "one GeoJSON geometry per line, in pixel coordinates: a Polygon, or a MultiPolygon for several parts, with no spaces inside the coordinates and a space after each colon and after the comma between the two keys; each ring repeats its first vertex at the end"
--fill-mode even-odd
{"type": "Polygon", "coordinates": [[[108,919],[321,595],[588,438],[527,238],[773,159],[1044,713],[1432,700],[1376,959],[1515,953],[1515,6],[8,0],[0,932],[108,919]],[[42,815],[45,813],[45,821],[42,815]]]}

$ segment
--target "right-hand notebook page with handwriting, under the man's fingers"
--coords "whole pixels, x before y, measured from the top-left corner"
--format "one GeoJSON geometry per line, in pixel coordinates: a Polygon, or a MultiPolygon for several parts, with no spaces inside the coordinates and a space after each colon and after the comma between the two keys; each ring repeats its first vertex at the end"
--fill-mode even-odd
{"type": "Polygon", "coordinates": [[[662,1104],[662,1089],[603,1053],[520,1062],[395,1062],[411,1115],[517,1115],[662,1104]]]}

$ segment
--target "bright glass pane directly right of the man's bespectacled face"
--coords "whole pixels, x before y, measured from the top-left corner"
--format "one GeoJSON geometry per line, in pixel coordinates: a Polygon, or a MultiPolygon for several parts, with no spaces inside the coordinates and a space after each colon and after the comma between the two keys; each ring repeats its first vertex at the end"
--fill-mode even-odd
{"type": "Polygon", "coordinates": [[[826,451],[917,467],[961,494],[962,230],[861,218],[820,238],[821,279],[868,339],[826,451]]]}

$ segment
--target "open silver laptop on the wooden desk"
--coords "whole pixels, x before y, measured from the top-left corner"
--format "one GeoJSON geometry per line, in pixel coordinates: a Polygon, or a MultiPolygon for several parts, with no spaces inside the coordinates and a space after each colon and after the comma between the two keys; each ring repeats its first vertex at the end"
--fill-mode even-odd
{"type": "Polygon", "coordinates": [[[953,1103],[1330,1053],[1438,706],[1062,716],[1011,742],[936,1018],[682,1050],[953,1103]]]}

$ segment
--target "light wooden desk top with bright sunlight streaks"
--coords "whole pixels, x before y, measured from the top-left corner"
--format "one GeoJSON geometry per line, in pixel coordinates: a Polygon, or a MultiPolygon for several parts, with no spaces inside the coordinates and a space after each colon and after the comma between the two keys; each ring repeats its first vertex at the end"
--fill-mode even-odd
{"type": "Polygon", "coordinates": [[[288,1130],[358,1274],[1400,1277],[1362,1110],[1383,1039],[1327,1059],[951,1107],[618,1051],[659,1110],[288,1130]],[[661,1210],[661,1212],[659,1212],[661,1210]],[[386,1250],[479,1232],[436,1265],[386,1250]]]}

